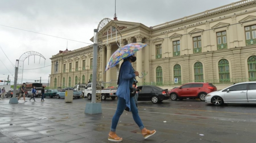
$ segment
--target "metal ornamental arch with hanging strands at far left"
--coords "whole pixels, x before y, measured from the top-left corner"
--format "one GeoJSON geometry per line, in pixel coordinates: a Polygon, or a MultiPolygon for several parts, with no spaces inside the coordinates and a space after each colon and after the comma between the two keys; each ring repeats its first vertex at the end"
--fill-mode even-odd
{"type": "MultiPolygon", "coordinates": [[[[18,70],[18,79],[17,79],[17,82],[18,83],[23,83],[22,82],[22,79],[23,79],[23,67],[24,67],[24,61],[26,58],[29,58],[29,56],[40,56],[40,59],[41,57],[44,59],[44,64],[45,64],[45,58],[44,56],[41,54],[41,53],[38,53],[38,52],[35,52],[35,51],[29,51],[29,52],[26,52],[26,53],[23,53],[21,56],[20,56],[20,59],[19,59],[19,70],[18,70]]],[[[40,59],[39,59],[39,63],[40,63],[40,59]]]]}

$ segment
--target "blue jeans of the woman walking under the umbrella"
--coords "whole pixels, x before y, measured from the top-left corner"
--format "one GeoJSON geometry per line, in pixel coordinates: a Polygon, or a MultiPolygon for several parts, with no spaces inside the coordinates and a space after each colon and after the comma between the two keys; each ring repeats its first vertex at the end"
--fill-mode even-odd
{"type": "MultiPolygon", "coordinates": [[[[142,130],[143,128],[145,128],[145,126],[143,125],[143,123],[140,119],[139,112],[138,112],[138,109],[135,105],[133,97],[130,97],[130,102],[131,102],[132,117],[134,118],[135,123],[137,123],[137,125],[140,127],[140,130],[142,130]]],[[[112,125],[111,125],[111,131],[112,132],[116,132],[117,123],[119,121],[120,116],[124,112],[125,107],[126,107],[125,99],[121,98],[121,97],[118,97],[116,113],[112,118],[112,125]]]]}

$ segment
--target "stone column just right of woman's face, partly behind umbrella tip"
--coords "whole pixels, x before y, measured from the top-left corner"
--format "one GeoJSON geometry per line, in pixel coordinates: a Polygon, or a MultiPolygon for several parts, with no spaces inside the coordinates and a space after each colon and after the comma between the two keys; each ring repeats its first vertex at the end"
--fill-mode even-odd
{"type": "MultiPolygon", "coordinates": [[[[142,36],[141,34],[139,34],[139,35],[136,35],[136,36],[134,36],[135,38],[136,38],[136,41],[137,41],[137,43],[141,43],[142,42],[142,39],[144,38],[144,36],[142,36]]],[[[137,61],[136,61],[136,70],[140,73],[140,76],[141,76],[141,72],[143,72],[142,71],[142,50],[139,50],[139,51],[137,51],[137,61]]],[[[140,84],[142,84],[142,79],[140,79],[140,78],[136,78],[136,80],[140,83],[140,84]]]]}

